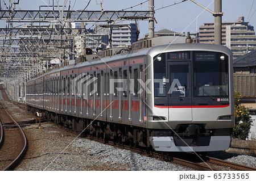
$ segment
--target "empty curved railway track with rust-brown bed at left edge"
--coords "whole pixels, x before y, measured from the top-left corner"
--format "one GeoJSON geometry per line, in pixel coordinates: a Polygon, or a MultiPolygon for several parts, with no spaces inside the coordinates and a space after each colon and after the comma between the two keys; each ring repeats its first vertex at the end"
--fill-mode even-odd
{"type": "Polygon", "coordinates": [[[19,124],[7,112],[3,101],[0,102],[1,142],[0,170],[13,170],[22,161],[27,151],[27,138],[19,124]],[[6,123],[13,122],[15,128],[9,128],[6,123]]]}

